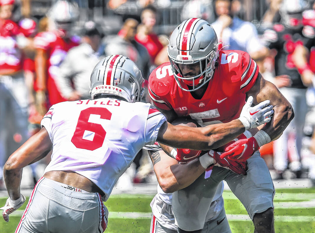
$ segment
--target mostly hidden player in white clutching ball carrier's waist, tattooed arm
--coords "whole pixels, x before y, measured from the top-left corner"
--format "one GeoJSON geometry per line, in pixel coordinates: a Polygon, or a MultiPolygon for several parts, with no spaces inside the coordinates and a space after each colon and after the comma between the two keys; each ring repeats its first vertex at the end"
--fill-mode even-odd
{"type": "MultiPolygon", "coordinates": [[[[150,233],[177,233],[178,224],[173,213],[172,192],[191,185],[196,179],[204,179],[201,175],[203,170],[198,169],[198,158],[180,164],[163,153],[160,147],[146,146],[145,149],[148,149],[158,180],[157,194],[150,203],[152,208],[150,233]]],[[[198,186],[195,185],[194,188],[198,189],[198,186]]],[[[223,181],[209,192],[213,192],[214,195],[207,207],[202,232],[231,233],[222,197],[223,181]]]]}

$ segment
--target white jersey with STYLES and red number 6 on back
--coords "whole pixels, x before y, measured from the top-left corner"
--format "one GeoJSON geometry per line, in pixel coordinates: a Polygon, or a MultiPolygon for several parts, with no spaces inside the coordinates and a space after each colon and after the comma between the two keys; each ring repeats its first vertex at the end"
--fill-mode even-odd
{"type": "Polygon", "coordinates": [[[112,98],[61,102],[41,121],[53,143],[49,171],[76,172],[108,199],[118,178],[146,144],[153,144],[165,116],[149,103],[112,98]]]}

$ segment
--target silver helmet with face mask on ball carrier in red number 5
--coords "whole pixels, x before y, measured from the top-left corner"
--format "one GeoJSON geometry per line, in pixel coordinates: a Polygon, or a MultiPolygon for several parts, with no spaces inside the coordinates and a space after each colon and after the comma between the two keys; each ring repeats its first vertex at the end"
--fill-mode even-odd
{"type": "Polygon", "coordinates": [[[213,76],[219,54],[218,38],[206,20],[190,18],[184,20],[172,32],[167,53],[179,87],[185,91],[194,91],[213,76]],[[184,78],[178,64],[195,63],[199,63],[200,73],[194,77],[184,78]]]}

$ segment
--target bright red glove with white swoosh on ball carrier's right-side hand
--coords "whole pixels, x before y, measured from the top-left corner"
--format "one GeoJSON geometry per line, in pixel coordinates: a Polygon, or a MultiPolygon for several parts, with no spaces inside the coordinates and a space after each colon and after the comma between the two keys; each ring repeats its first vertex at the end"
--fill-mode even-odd
{"type": "Polygon", "coordinates": [[[255,137],[241,139],[228,146],[220,158],[229,158],[234,161],[243,162],[259,149],[258,143],[255,137]]]}

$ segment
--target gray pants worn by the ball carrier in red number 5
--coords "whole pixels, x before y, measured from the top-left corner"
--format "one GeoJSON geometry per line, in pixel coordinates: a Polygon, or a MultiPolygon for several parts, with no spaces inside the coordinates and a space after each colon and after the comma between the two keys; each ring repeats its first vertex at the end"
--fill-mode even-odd
{"type": "Polygon", "coordinates": [[[225,180],[232,192],[242,202],[250,218],[273,208],[275,190],[265,161],[256,151],[247,160],[247,175],[215,166],[208,179],[201,175],[185,189],[173,193],[173,213],[182,230],[203,229],[205,218],[215,195],[216,186],[225,180]]]}

